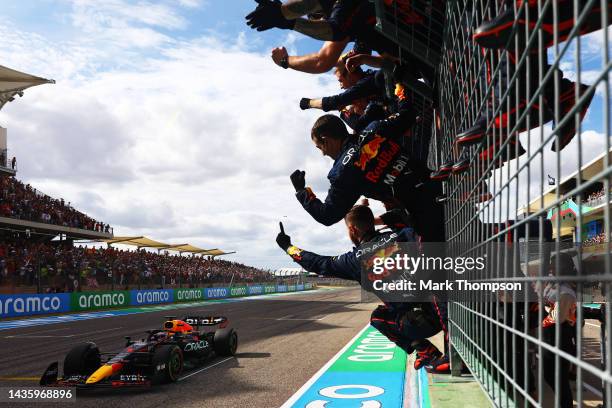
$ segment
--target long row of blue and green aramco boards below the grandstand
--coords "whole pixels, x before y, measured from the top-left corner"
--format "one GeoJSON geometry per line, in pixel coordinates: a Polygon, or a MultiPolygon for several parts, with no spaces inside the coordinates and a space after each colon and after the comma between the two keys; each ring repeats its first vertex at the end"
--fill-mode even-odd
{"type": "Polygon", "coordinates": [[[250,285],[192,289],[117,290],[50,294],[0,295],[0,319],[67,312],[111,309],[181,302],[197,302],[230,297],[258,296],[313,289],[300,285],[250,285]]]}

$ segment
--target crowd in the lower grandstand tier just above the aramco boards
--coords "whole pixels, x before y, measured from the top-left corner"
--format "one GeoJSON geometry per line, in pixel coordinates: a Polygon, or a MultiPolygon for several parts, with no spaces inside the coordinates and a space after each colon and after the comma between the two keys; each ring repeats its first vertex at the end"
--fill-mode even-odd
{"type": "Polygon", "coordinates": [[[67,242],[0,241],[0,285],[36,286],[47,292],[102,287],[196,287],[219,282],[265,282],[270,273],[221,259],[87,248],[67,242]]]}

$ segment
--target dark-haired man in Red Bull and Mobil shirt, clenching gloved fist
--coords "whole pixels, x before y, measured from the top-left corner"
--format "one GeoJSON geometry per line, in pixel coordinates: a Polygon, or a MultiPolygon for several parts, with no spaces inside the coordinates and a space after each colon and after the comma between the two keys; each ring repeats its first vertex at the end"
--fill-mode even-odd
{"type": "Polygon", "coordinates": [[[395,202],[414,216],[423,241],[444,242],[444,208],[436,201],[440,184],[429,179],[424,161],[411,158],[401,146],[403,134],[414,121],[410,103],[400,103],[398,114],[372,122],[355,138],[339,117],[320,117],[311,138],[323,155],[334,159],[327,176],[331,186],[321,201],[306,187],[305,172],[296,170],[291,182],[298,201],[324,225],[340,221],[361,196],[395,202]]]}

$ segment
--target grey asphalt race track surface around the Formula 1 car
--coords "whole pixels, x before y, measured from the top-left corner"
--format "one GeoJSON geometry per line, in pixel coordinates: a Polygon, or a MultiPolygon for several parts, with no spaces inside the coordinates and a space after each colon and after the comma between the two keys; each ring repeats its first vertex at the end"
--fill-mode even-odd
{"type": "MultiPolygon", "coordinates": [[[[235,358],[216,358],[175,384],[147,390],[96,390],[77,403],[20,403],[17,407],[278,407],[368,322],[373,304],[358,288],[322,290],[236,303],[202,303],[176,315],[221,314],[238,331],[235,358]],[[193,374],[193,375],[190,375],[193,374]]],[[[94,341],[118,351],[124,336],[139,339],[161,328],[172,311],[123,315],[0,331],[0,387],[37,386],[47,365],[60,367],[70,347],[94,341]]],[[[0,403],[0,406],[9,406],[0,403]]]]}

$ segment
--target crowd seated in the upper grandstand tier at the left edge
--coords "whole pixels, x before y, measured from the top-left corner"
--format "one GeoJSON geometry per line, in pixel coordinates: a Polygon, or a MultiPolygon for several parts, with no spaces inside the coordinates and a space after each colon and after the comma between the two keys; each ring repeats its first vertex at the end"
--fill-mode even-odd
{"type": "Polygon", "coordinates": [[[0,176],[0,216],[112,233],[110,225],[75,210],[63,198],[42,194],[15,177],[0,176]]]}

